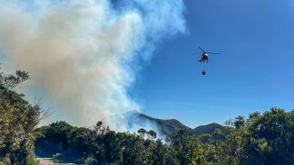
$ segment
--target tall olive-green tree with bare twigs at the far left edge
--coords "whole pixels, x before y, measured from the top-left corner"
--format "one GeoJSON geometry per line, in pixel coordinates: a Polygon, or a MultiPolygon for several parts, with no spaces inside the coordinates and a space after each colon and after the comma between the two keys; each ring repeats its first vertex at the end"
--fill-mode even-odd
{"type": "Polygon", "coordinates": [[[40,102],[30,104],[14,91],[27,72],[5,75],[0,70],[0,164],[25,164],[33,158],[35,128],[46,114],[40,102]]]}

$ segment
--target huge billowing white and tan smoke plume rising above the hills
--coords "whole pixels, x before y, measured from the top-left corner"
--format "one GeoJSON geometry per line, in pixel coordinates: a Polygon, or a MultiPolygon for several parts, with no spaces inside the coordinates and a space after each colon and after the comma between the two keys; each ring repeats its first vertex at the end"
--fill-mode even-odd
{"type": "Polygon", "coordinates": [[[140,109],[128,96],[138,61],[185,32],[184,11],[182,0],[0,0],[0,59],[28,71],[71,124],[95,124],[140,109]]]}

